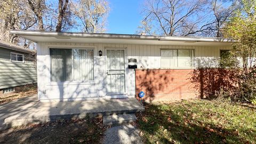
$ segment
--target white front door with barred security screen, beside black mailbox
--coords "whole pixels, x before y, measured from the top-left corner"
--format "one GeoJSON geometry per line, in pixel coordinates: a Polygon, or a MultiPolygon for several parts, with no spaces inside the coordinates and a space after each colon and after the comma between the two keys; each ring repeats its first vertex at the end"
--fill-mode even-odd
{"type": "Polygon", "coordinates": [[[107,49],[107,95],[125,94],[125,50],[107,49]]]}

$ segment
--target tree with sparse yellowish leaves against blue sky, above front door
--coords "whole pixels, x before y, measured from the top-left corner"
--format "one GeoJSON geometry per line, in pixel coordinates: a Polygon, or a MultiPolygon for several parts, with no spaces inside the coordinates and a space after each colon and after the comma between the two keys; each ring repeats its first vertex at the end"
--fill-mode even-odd
{"type": "Polygon", "coordinates": [[[86,33],[105,33],[109,3],[104,0],[79,0],[75,14],[81,20],[86,33]]]}

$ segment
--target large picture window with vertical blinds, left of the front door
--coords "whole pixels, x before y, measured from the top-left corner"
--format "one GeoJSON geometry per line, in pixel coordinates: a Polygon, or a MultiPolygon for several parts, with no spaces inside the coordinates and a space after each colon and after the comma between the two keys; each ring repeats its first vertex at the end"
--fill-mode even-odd
{"type": "Polygon", "coordinates": [[[92,49],[50,49],[51,81],[93,81],[92,49]]]}

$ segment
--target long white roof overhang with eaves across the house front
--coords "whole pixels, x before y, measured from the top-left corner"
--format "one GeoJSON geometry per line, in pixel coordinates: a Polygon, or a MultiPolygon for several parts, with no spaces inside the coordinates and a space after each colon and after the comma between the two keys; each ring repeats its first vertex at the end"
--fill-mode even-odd
{"type": "Polygon", "coordinates": [[[70,33],[53,31],[11,30],[12,34],[27,38],[33,42],[57,43],[120,43],[150,45],[195,45],[230,46],[231,39],[214,37],[176,37],[124,34],[70,33]]]}

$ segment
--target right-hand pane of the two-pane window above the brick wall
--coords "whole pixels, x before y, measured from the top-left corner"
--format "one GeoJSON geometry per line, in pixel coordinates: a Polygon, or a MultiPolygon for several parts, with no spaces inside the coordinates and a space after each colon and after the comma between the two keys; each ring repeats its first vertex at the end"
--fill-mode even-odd
{"type": "Polygon", "coordinates": [[[193,50],[178,50],[178,67],[191,67],[193,55],[193,50]]]}

